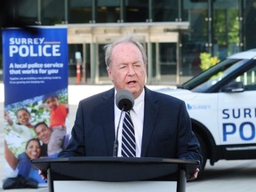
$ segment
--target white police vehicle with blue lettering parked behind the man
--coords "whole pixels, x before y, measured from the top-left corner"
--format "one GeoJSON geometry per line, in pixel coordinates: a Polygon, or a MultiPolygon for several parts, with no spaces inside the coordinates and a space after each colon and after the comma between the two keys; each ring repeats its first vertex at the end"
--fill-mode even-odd
{"type": "Polygon", "coordinates": [[[177,89],[200,142],[205,166],[220,159],[256,158],[256,49],[239,52],[177,89]]]}

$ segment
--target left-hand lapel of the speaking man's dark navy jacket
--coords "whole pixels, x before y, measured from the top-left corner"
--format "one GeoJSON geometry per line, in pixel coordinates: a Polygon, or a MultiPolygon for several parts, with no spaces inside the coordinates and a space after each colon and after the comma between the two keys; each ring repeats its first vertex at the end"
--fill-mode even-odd
{"type": "Polygon", "coordinates": [[[104,103],[100,108],[99,121],[102,122],[103,132],[108,148],[108,156],[113,154],[113,145],[115,140],[115,118],[114,118],[114,88],[103,95],[104,103]]]}

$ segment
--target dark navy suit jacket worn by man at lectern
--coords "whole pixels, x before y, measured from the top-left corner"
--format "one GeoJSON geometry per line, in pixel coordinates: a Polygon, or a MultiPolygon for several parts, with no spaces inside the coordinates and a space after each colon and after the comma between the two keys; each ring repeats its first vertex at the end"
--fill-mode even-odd
{"type": "MultiPolygon", "coordinates": [[[[68,147],[60,157],[113,156],[114,88],[79,102],[68,147]]],[[[145,87],[141,156],[201,160],[182,100],[145,87]]]]}

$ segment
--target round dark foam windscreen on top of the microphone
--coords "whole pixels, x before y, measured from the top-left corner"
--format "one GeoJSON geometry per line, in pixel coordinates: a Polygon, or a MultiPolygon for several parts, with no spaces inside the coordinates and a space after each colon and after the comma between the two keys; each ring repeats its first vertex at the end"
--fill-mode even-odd
{"type": "Polygon", "coordinates": [[[134,98],[131,92],[128,90],[120,90],[116,92],[116,106],[120,110],[124,108],[124,111],[129,111],[133,108],[134,98]]]}

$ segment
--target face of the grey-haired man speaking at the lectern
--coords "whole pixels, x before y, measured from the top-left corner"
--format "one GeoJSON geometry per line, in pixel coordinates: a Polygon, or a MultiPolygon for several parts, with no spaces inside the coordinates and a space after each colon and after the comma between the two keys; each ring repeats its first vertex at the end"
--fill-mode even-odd
{"type": "Polygon", "coordinates": [[[116,91],[126,89],[132,92],[134,99],[140,96],[145,84],[146,64],[135,44],[116,44],[111,54],[108,77],[116,91]]]}

